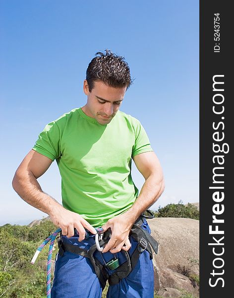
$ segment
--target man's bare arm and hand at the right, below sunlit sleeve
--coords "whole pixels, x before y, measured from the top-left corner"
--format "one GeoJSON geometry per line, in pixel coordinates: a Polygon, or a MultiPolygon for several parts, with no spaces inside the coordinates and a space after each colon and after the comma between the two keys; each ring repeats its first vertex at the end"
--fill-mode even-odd
{"type": "Polygon", "coordinates": [[[137,218],[153,205],[164,191],[163,171],[156,154],[152,151],[140,153],[133,157],[139,172],[144,176],[145,183],[132,207],[124,214],[118,215],[103,225],[104,231],[112,229],[112,237],[103,252],[110,250],[117,253],[121,249],[128,250],[128,235],[137,218]],[[125,243],[126,246],[123,246],[125,243]]]}

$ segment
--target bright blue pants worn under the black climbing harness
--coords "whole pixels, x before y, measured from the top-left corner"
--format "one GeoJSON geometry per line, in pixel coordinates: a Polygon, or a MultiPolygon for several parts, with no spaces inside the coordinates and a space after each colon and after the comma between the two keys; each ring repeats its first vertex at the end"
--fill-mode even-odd
{"type": "MultiPolygon", "coordinates": [[[[141,225],[149,233],[150,227],[145,220],[141,225]]],[[[95,243],[95,236],[89,236],[78,242],[77,237],[67,238],[62,236],[62,240],[79,247],[89,249],[95,243]]],[[[131,248],[128,250],[130,256],[137,246],[137,242],[130,236],[131,248]]],[[[114,258],[111,252],[101,253],[96,250],[94,257],[102,264],[114,258]]],[[[115,254],[119,265],[126,261],[121,252],[115,254]]],[[[106,269],[108,271],[108,269],[106,269]]],[[[114,271],[108,271],[110,275],[114,271]]],[[[55,278],[51,291],[52,298],[101,298],[102,287],[94,271],[89,258],[65,251],[61,257],[56,256],[55,278]]],[[[132,272],[118,284],[109,286],[107,298],[153,298],[154,297],[154,269],[149,253],[145,250],[141,253],[139,260],[132,272]]]]}

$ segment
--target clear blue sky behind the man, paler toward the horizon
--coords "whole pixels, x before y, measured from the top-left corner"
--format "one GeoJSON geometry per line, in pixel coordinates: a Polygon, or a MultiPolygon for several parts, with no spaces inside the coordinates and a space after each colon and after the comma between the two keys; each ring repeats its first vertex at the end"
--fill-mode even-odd
{"type": "MultiPolygon", "coordinates": [[[[135,80],[120,110],[141,121],[164,170],[152,209],[199,201],[198,0],[1,0],[0,36],[0,224],[46,216],[12,177],[45,125],[86,103],[88,63],[105,49],[129,64],[135,80]]],[[[39,182],[60,202],[55,162],[39,182]]]]}

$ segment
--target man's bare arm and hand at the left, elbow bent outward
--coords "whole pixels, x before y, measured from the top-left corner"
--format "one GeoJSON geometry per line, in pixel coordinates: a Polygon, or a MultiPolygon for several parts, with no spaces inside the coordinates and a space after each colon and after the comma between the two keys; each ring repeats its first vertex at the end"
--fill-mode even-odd
{"type": "Polygon", "coordinates": [[[62,229],[62,234],[73,236],[74,227],[79,232],[79,241],[85,237],[85,228],[96,234],[96,230],[79,214],[63,208],[50,195],[43,192],[37,179],[50,167],[52,160],[31,150],[23,159],[12,180],[13,189],[28,204],[47,213],[52,222],[62,229]]]}

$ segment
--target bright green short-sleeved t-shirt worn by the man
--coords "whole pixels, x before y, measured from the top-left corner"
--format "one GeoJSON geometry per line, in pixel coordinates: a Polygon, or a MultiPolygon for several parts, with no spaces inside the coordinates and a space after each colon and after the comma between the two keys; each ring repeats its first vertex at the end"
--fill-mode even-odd
{"type": "Polygon", "coordinates": [[[118,111],[101,125],[81,108],[49,123],[33,149],[57,161],[62,205],[94,227],[127,211],[138,196],[133,156],[153,151],[140,122],[118,111]]]}

